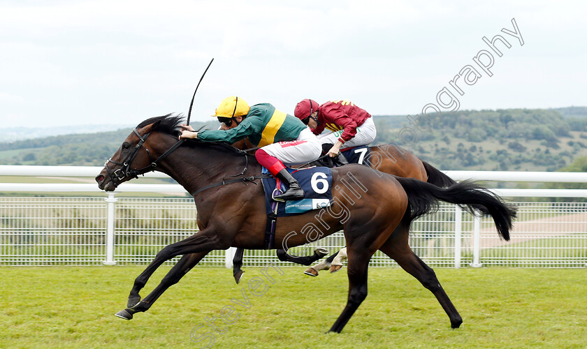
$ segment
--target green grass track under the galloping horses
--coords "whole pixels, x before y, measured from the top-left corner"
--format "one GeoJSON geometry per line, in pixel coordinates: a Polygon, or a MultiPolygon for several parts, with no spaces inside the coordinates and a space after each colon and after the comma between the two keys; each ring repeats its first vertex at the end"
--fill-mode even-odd
{"type": "MultiPolygon", "coordinates": [[[[169,267],[154,274],[146,290],[169,267]]],[[[401,269],[370,269],[369,295],[342,334],[325,334],[345,305],[347,276],[282,268],[250,308],[224,268],[196,268],[147,313],[124,309],[143,267],[1,267],[0,348],[201,348],[191,329],[232,304],[240,318],[215,324],[213,348],[586,348],[587,269],[437,269],[463,316],[450,329],[433,295],[401,269]]],[[[343,269],[346,271],[346,269],[343,269]]],[[[141,292],[143,297],[147,292],[141,292]]],[[[206,327],[208,328],[208,327],[206,327]]],[[[210,330],[210,329],[208,329],[210,330]]],[[[197,336],[205,329],[198,329],[197,336]]]]}

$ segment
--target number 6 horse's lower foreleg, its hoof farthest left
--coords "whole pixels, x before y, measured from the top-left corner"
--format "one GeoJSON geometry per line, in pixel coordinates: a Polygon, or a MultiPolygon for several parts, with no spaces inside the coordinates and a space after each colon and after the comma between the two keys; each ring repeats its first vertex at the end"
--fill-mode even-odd
{"type": "Polygon", "coordinates": [[[165,292],[172,285],[175,285],[177,282],[179,282],[180,279],[182,279],[182,277],[187,274],[191,268],[197,265],[198,262],[200,262],[207,254],[208,252],[190,253],[188,255],[183,255],[182,258],[177,261],[177,264],[171,268],[166,276],[164,276],[164,278],[161,280],[161,283],[159,283],[159,285],[157,285],[157,287],[152,290],[152,292],[147,295],[145,299],[141,301],[139,297],[139,299],[136,299],[136,302],[134,302],[135,299],[133,299],[132,302],[134,303],[131,304],[131,298],[129,297],[129,303],[127,305],[128,308],[119,311],[115,315],[119,318],[131,320],[134,313],[147,311],[153,305],[153,303],[157,301],[159,296],[163,294],[163,292],[165,292]]]}

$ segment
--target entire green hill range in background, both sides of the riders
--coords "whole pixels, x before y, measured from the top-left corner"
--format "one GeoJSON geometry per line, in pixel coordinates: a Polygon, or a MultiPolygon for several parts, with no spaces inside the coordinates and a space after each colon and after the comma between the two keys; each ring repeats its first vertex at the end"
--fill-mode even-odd
{"type": "MultiPolygon", "coordinates": [[[[405,115],[375,116],[375,144],[398,142],[405,115]]],[[[421,122],[414,154],[442,170],[553,171],[587,156],[587,107],[463,110],[421,122]]],[[[194,127],[203,126],[194,123],[194,127]]],[[[217,123],[205,124],[216,128],[217,123]]],[[[0,143],[6,165],[103,165],[131,129],[0,143]]]]}

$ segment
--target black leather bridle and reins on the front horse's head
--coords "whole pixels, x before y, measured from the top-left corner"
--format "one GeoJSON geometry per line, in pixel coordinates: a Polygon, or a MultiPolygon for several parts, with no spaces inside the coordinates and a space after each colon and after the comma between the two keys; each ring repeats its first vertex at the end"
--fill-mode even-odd
{"type": "Polygon", "coordinates": [[[180,145],[182,145],[185,142],[185,140],[180,140],[177,143],[173,144],[173,146],[171,146],[171,148],[169,148],[164,154],[159,156],[159,158],[155,159],[154,161],[152,160],[151,152],[149,151],[149,149],[147,147],[144,147],[145,151],[147,151],[147,156],[149,156],[150,164],[145,166],[144,168],[139,168],[137,170],[133,170],[133,169],[131,169],[131,164],[133,163],[134,159],[138,155],[138,151],[140,151],[140,149],[143,148],[143,146],[145,144],[145,140],[147,140],[147,138],[151,134],[150,132],[147,132],[147,133],[145,133],[145,135],[141,136],[140,133],[138,133],[138,130],[136,128],[133,131],[139,139],[138,143],[134,147],[133,152],[131,154],[129,154],[129,156],[126,156],[126,158],[124,159],[124,161],[122,161],[122,163],[118,163],[116,161],[113,161],[112,158],[109,158],[108,161],[106,161],[106,163],[104,163],[104,168],[106,168],[106,172],[108,172],[108,176],[110,176],[110,181],[112,181],[115,188],[120,183],[122,183],[122,180],[125,178],[128,178],[128,177],[138,178],[139,174],[145,174],[147,172],[154,171],[155,168],[157,168],[157,163],[159,163],[159,161],[166,158],[169,154],[171,154],[171,152],[173,152],[175,149],[177,149],[177,147],[180,147],[180,145]],[[112,170],[110,170],[110,168],[108,168],[108,163],[113,163],[115,165],[122,166],[122,168],[119,168],[117,170],[112,171],[112,170]]]}

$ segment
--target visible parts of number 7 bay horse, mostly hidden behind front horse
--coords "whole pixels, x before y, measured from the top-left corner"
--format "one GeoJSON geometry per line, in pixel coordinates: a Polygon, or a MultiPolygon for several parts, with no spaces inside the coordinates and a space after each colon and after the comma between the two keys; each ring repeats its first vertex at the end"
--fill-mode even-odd
{"type": "MultiPolygon", "coordinates": [[[[226,124],[222,124],[220,126],[221,130],[228,130],[229,128],[231,127],[226,126],[226,124]]],[[[232,146],[237,149],[248,151],[249,154],[254,154],[254,151],[257,149],[247,138],[244,138],[242,140],[239,140],[238,142],[233,143],[232,146]]],[[[428,183],[434,184],[435,186],[440,186],[441,188],[446,188],[456,183],[454,179],[451,179],[451,177],[448,177],[446,174],[442,173],[433,165],[426,163],[426,161],[422,161],[420,158],[412,154],[410,151],[407,151],[406,149],[399,147],[397,144],[375,145],[369,147],[369,150],[370,153],[367,158],[368,161],[365,161],[365,163],[367,163],[371,168],[375,170],[393,174],[398,177],[414,178],[419,179],[420,181],[427,181],[428,183]]],[[[468,207],[465,208],[471,213],[475,209],[481,212],[484,211],[483,207],[475,207],[475,205],[468,205],[468,207]]],[[[406,235],[408,234],[407,231],[403,233],[405,233],[406,235]]],[[[314,250],[313,255],[298,256],[291,255],[282,248],[277,248],[275,253],[277,254],[277,258],[279,258],[279,260],[281,260],[282,262],[293,262],[300,265],[311,265],[313,262],[324,257],[327,251],[328,250],[326,250],[325,248],[316,248],[314,250]]],[[[244,258],[244,255],[244,248],[236,249],[233,258],[233,277],[237,284],[240,282],[240,278],[242,278],[242,260],[244,258]]],[[[338,252],[331,255],[328,258],[327,262],[324,263],[326,268],[328,268],[328,265],[330,264],[330,262],[334,260],[336,255],[338,255],[338,252]]],[[[310,269],[307,269],[305,274],[317,276],[317,274],[314,274],[314,271],[310,269]]],[[[338,267],[338,269],[340,269],[340,267],[338,267]]],[[[406,272],[412,274],[410,269],[406,269],[406,272]]]]}

